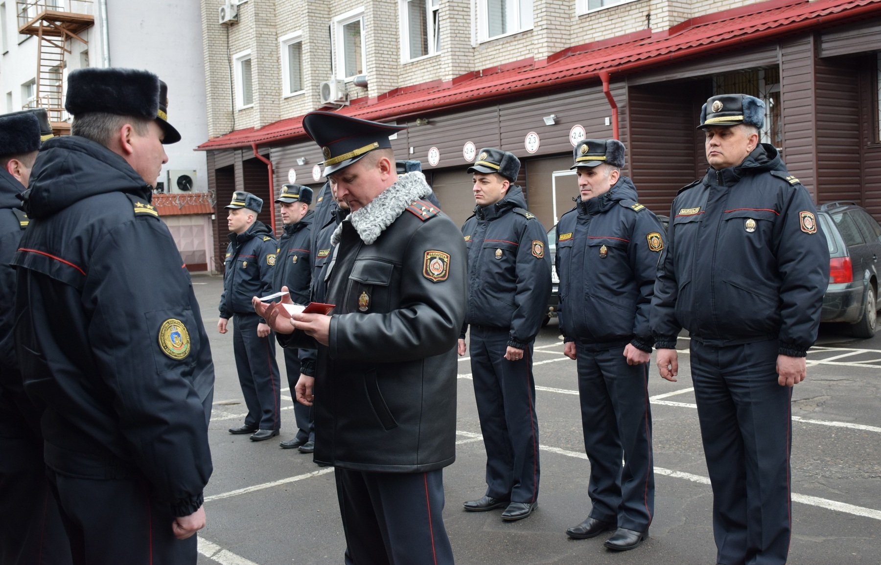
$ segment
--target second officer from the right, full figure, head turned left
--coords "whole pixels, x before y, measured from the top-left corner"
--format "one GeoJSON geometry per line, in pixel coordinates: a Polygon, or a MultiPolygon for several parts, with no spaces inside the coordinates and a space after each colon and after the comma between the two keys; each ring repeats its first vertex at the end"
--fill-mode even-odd
{"type": "Polygon", "coordinates": [[[559,219],[555,259],[564,352],[578,361],[593,509],[566,534],[585,539],[617,528],[605,547],[633,549],[648,536],[655,506],[648,312],[663,227],[621,174],[623,143],[588,139],[573,155],[581,194],[559,219]]]}

